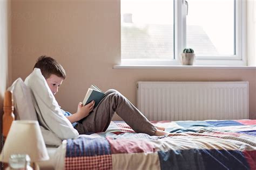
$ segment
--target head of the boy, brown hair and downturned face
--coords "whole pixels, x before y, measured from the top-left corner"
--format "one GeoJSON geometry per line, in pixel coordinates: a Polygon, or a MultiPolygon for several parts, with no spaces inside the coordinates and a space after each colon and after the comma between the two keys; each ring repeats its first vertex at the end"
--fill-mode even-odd
{"type": "Polygon", "coordinates": [[[66,72],[62,65],[50,56],[40,56],[34,66],[40,68],[48,86],[50,87],[53,95],[58,92],[58,87],[66,78],[66,72]]]}

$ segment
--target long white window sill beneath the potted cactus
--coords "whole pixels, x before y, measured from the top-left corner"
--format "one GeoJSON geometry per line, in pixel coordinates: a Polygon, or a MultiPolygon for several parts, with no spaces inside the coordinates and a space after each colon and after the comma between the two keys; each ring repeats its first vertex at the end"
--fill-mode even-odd
{"type": "Polygon", "coordinates": [[[256,66],[114,65],[113,69],[256,69],[256,66]]]}

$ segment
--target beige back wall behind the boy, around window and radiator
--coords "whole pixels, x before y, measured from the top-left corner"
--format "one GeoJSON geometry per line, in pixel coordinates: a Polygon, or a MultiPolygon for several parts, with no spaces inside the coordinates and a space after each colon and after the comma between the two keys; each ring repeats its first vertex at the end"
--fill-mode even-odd
{"type": "Polygon", "coordinates": [[[12,0],[12,80],[31,72],[39,55],[55,56],[67,79],[56,98],[75,112],[90,84],[119,90],[136,103],[137,81],[249,81],[256,118],[255,69],[112,69],[120,62],[118,0],[12,0]]]}

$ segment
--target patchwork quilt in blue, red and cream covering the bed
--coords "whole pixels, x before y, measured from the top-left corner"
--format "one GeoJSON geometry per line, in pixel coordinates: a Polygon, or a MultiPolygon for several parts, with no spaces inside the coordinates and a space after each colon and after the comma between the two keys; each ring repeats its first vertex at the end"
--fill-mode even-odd
{"type": "Polygon", "coordinates": [[[256,120],[152,122],[166,136],[125,122],[68,139],[66,169],[256,169],[256,120]]]}

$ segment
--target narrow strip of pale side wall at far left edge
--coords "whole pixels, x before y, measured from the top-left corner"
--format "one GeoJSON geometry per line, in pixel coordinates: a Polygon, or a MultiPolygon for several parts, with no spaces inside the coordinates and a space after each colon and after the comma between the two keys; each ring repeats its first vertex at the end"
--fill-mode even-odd
{"type": "MultiPolygon", "coordinates": [[[[0,0],[0,132],[2,134],[2,114],[3,99],[6,86],[8,84],[8,56],[10,54],[10,2],[8,0],[0,0]]],[[[2,150],[2,136],[0,151],[2,150]]]]}

